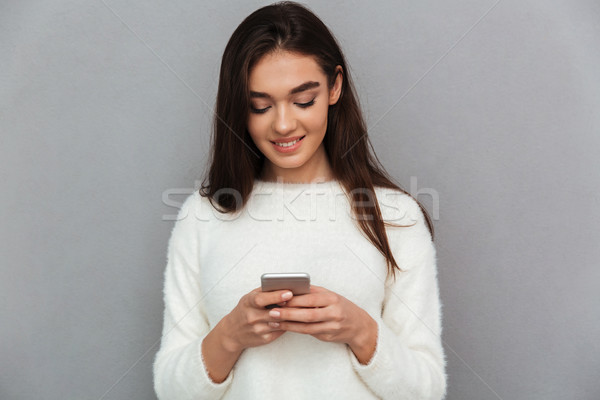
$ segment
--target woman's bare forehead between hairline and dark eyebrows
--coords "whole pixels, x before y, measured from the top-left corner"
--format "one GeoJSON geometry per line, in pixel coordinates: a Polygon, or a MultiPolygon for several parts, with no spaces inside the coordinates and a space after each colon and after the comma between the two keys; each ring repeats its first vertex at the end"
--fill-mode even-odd
{"type": "Polygon", "coordinates": [[[321,83],[326,76],[314,57],[290,52],[273,52],[263,56],[250,71],[251,91],[287,95],[290,89],[307,81],[321,83]]]}

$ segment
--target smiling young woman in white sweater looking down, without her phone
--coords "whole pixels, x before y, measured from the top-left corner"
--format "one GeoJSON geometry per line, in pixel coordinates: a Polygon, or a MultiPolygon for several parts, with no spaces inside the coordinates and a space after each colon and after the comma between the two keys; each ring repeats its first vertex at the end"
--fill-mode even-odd
{"type": "Polygon", "coordinates": [[[238,26],[208,176],[169,241],[160,399],[444,397],[432,224],[367,143],[344,56],[312,12],[277,3],[238,26]],[[313,285],[262,292],[265,272],[313,285]]]}

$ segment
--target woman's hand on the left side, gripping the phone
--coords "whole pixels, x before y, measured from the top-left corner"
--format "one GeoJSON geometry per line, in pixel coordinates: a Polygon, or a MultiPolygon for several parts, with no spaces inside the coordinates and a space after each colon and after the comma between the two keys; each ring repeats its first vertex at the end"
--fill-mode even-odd
{"type": "Polygon", "coordinates": [[[263,292],[260,287],[245,294],[237,306],[223,318],[223,345],[237,353],[248,347],[271,343],[285,333],[270,326],[275,319],[269,316],[270,304],[284,306],[292,298],[289,290],[263,292]]]}

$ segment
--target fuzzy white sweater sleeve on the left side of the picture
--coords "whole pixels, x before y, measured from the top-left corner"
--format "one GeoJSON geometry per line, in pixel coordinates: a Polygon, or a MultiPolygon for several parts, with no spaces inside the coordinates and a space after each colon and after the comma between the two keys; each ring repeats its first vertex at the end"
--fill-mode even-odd
{"type": "Polygon", "coordinates": [[[164,272],[164,322],[153,365],[154,390],[161,400],[219,399],[233,370],[213,382],[202,359],[202,340],[210,327],[200,293],[197,215],[198,193],[184,202],[171,232],[164,272]]]}

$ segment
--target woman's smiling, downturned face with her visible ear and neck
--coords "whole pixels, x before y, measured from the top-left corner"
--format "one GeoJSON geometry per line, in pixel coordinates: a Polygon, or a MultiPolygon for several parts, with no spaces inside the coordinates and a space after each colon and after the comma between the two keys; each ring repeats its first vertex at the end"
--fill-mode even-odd
{"type": "Polygon", "coordinates": [[[329,106],[340,96],[342,74],[331,89],[327,82],[313,57],[290,52],[267,54],[250,71],[247,127],[265,155],[263,179],[333,179],[323,138],[329,106]]]}

